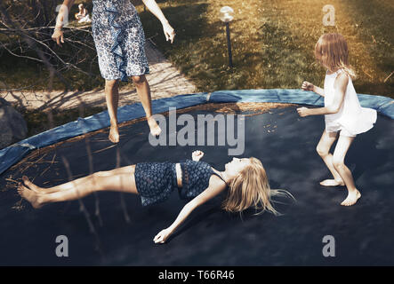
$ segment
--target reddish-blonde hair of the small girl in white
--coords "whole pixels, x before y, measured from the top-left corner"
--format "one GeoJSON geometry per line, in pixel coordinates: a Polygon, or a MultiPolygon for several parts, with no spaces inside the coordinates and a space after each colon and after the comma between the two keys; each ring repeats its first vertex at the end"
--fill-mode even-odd
{"type": "Polygon", "coordinates": [[[346,39],[340,34],[324,34],[315,45],[315,57],[318,63],[331,71],[342,69],[355,79],[356,73],[349,64],[349,49],[346,39]]]}

